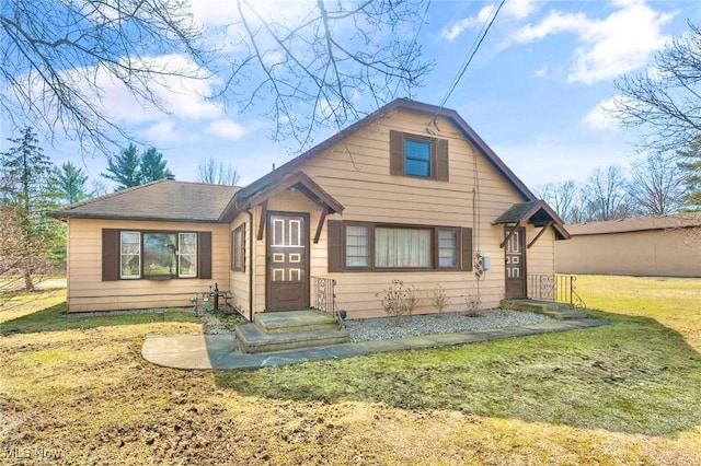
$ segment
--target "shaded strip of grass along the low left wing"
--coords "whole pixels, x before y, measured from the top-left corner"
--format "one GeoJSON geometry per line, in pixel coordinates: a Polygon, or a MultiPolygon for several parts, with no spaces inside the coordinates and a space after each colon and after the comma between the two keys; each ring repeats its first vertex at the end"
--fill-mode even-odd
{"type": "MultiPolygon", "coordinates": [[[[88,329],[115,325],[150,324],[158,321],[154,312],[118,314],[105,316],[70,316],[66,313],[66,303],[56,304],[42,311],[0,323],[0,335],[32,334],[36,331],[61,331],[88,329]]],[[[165,322],[198,322],[187,312],[166,311],[165,322]]]]}

